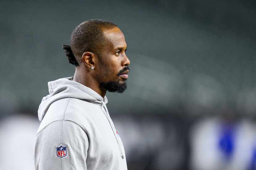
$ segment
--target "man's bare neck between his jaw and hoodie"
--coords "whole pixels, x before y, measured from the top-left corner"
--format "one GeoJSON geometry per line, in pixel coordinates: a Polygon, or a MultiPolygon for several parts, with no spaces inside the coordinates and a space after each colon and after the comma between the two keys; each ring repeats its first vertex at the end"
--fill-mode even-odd
{"type": "Polygon", "coordinates": [[[106,90],[102,90],[99,87],[99,83],[85,70],[81,68],[76,67],[76,71],[74,74],[73,81],[76,81],[82,85],[85,85],[86,87],[89,87],[90,89],[93,89],[96,93],[101,95],[101,97],[105,97],[106,95],[106,90]]]}

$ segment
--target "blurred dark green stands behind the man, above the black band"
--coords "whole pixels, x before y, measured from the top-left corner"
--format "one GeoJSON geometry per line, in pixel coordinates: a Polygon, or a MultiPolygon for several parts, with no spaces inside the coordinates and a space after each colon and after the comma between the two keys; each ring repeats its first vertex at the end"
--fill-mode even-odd
{"type": "Polygon", "coordinates": [[[47,82],[73,76],[61,46],[92,18],[117,24],[129,46],[128,89],[107,94],[113,114],[236,107],[255,88],[254,1],[4,1],[0,11],[2,114],[36,115],[47,82]]]}

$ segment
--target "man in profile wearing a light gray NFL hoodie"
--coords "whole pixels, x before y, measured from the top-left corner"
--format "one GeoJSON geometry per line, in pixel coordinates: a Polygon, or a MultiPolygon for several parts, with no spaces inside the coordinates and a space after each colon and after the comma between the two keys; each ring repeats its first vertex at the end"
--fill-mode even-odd
{"type": "Polygon", "coordinates": [[[106,91],[122,93],[130,61],[122,31],[88,20],[63,45],[74,77],[48,82],[38,109],[36,170],[123,170],[125,151],[106,107],[106,91]]]}

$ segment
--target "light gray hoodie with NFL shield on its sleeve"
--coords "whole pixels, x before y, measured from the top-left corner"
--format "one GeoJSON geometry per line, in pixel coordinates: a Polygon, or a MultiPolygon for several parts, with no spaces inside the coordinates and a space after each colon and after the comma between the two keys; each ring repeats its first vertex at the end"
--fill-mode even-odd
{"type": "Polygon", "coordinates": [[[36,170],[127,170],[122,140],[98,93],[73,77],[48,82],[38,109],[36,170]]]}

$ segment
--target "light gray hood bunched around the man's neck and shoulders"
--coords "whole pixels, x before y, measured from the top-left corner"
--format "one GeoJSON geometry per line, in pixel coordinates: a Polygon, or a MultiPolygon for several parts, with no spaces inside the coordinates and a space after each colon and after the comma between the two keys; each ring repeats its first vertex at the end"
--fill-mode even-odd
{"type": "Polygon", "coordinates": [[[99,104],[107,104],[108,99],[101,97],[97,92],[85,85],[73,81],[74,77],[60,78],[48,82],[49,94],[43,97],[38,108],[38,119],[41,122],[50,105],[60,99],[72,97],[90,100],[99,104]]]}

